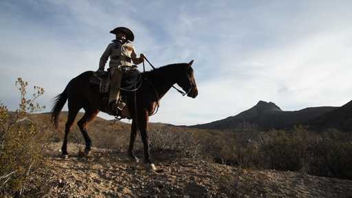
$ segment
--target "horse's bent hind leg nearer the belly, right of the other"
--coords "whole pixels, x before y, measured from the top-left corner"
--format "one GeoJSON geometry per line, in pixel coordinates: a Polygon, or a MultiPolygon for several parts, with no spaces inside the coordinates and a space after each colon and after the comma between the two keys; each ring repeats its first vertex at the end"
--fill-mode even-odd
{"type": "Polygon", "coordinates": [[[99,113],[96,109],[85,109],[85,115],[77,122],[78,127],[80,128],[80,132],[82,132],[83,137],[85,138],[85,155],[87,156],[91,152],[91,138],[87,132],[87,124],[91,122],[96,115],[99,113]]]}

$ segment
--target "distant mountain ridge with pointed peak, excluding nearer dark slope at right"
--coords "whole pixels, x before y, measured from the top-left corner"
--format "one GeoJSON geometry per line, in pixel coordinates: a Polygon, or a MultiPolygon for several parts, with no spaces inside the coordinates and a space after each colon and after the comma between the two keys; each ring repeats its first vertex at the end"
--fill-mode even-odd
{"type": "Polygon", "coordinates": [[[231,129],[232,126],[245,121],[258,124],[261,129],[278,129],[285,126],[293,126],[294,124],[310,123],[307,121],[318,118],[321,115],[325,115],[336,109],[339,109],[339,107],[308,107],[299,111],[282,111],[274,102],[260,100],[254,107],[243,111],[238,115],[207,124],[197,124],[188,127],[197,129],[227,130],[231,129]]]}

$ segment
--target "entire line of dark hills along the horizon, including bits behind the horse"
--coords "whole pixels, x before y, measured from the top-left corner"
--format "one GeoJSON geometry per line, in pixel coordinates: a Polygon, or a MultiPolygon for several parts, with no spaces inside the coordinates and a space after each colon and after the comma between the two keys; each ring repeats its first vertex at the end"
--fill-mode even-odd
{"type": "MultiPolygon", "coordinates": [[[[50,113],[43,113],[50,115],[50,113]]],[[[84,113],[79,112],[78,118],[84,113]]],[[[61,113],[61,118],[66,120],[67,111],[61,113]]],[[[77,118],[77,119],[78,119],[77,118]]],[[[104,118],[96,118],[97,122],[104,122],[104,118]]],[[[113,122],[110,120],[109,122],[113,122]]],[[[254,107],[230,116],[223,120],[217,120],[207,124],[182,126],[196,129],[229,130],[236,124],[250,122],[257,124],[260,129],[283,129],[293,125],[302,124],[309,126],[313,131],[325,129],[339,129],[340,131],[352,132],[352,100],[342,107],[307,107],[298,111],[283,111],[274,102],[260,100],[254,107]]],[[[174,126],[172,124],[150,123],[151,126],[174,126]]],[[[124,122],[116,122],[117,126],[130,127],[124,122]]]]}

